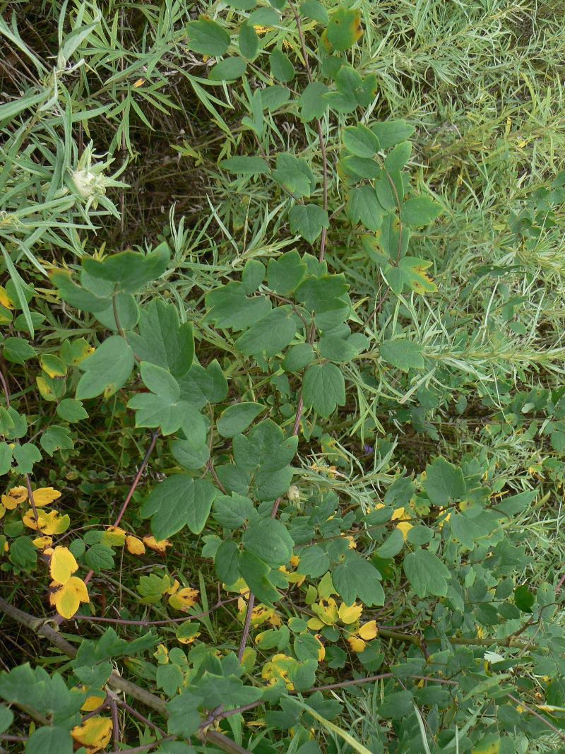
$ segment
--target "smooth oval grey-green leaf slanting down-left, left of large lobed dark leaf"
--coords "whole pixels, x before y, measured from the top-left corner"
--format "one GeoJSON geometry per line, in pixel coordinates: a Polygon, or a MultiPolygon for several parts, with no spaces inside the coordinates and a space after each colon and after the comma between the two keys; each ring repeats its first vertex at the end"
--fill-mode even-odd
{"type": "Polygon", "coordinates": [[[109,397],[117,392],[130,378],[133,369],[133,351],[119,335],[107,338],[78,365],[84,375],[78,381],[77,400],[109,397]]]}

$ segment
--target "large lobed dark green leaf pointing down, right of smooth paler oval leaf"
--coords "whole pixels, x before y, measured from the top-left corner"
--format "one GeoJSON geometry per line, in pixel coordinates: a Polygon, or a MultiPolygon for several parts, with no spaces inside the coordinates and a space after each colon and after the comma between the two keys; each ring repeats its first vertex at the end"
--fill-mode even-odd
{"type": "Polygon", "coordinates": [[[136,356],[168,369],[174,377],[182,377],[191,368],[194,358],[192,323],[179,322],[176,306],[154,299],[142,308],[139,334],[128,333],[136,356]]]}

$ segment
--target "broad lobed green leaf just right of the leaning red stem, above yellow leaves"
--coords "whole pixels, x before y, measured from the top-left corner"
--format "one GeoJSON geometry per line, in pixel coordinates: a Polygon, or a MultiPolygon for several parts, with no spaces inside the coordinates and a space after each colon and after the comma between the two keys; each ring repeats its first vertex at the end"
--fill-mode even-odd
{"type": "Polygon", "coordinates": [[[200,534],[214,495],[215,487],[207,480],[175,474],[154,488],[142,505],[141,516],[151,518],[151,532],[157,540],[173,536],[183,526],[200,534]]]}

